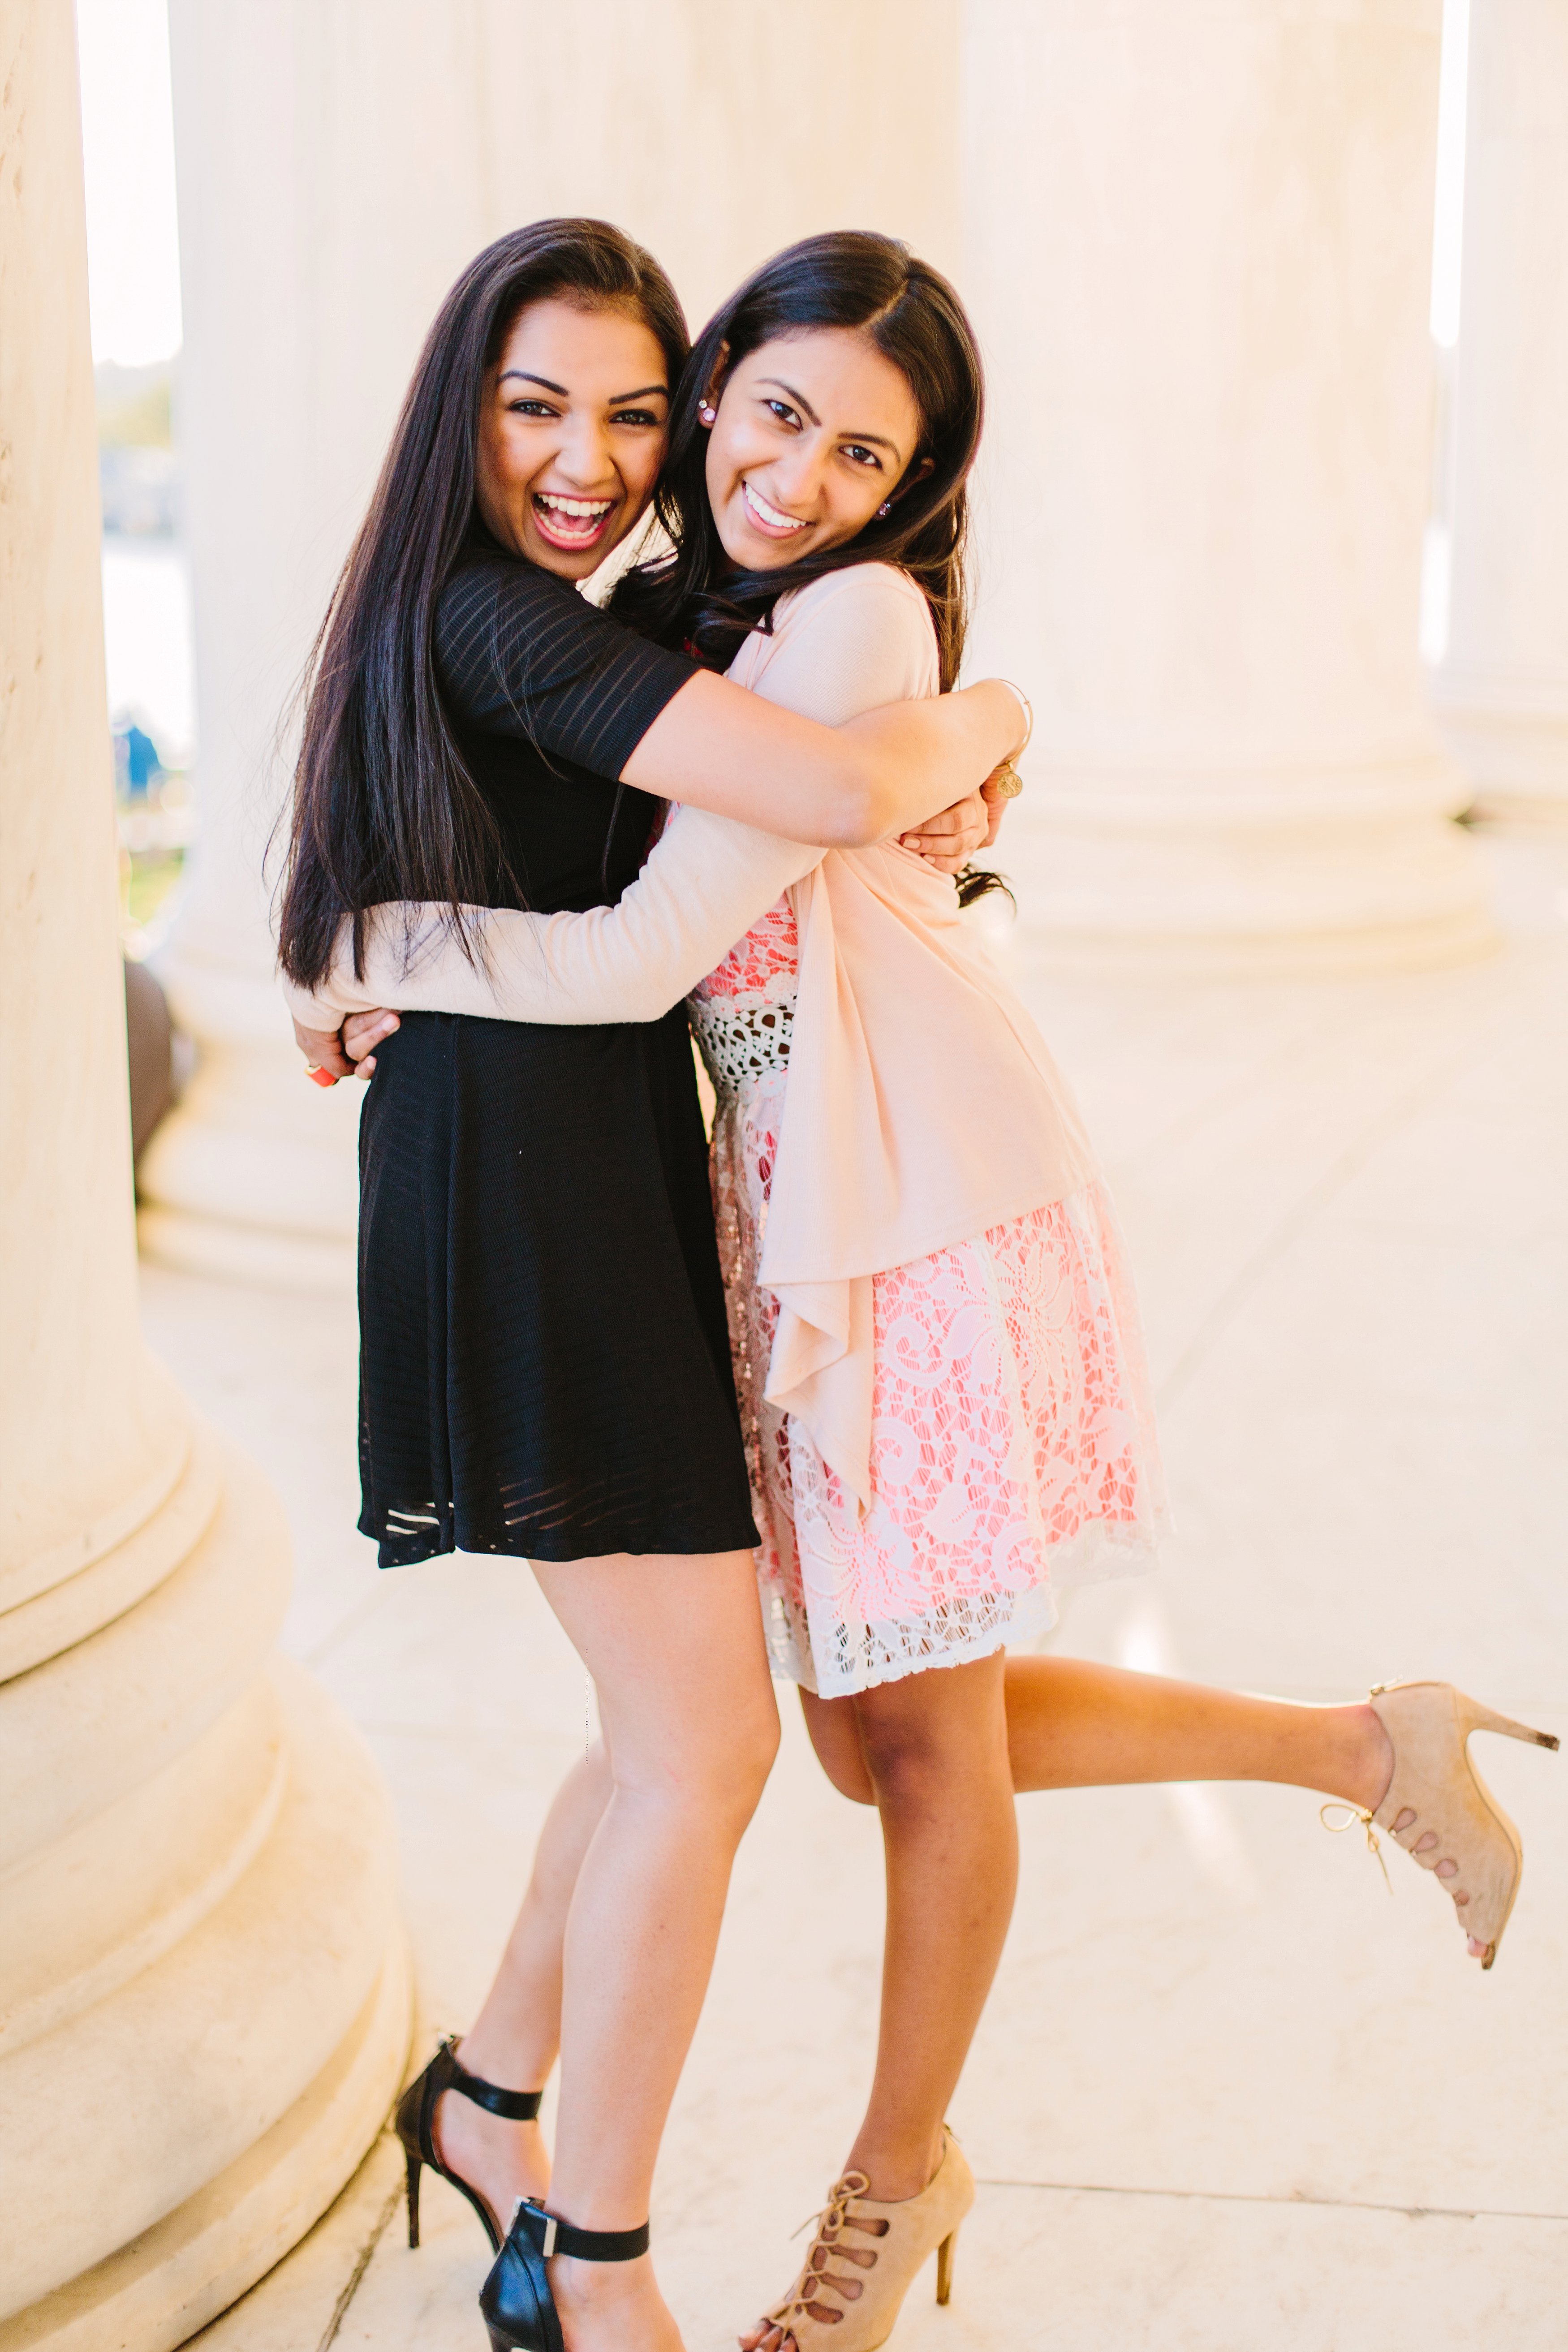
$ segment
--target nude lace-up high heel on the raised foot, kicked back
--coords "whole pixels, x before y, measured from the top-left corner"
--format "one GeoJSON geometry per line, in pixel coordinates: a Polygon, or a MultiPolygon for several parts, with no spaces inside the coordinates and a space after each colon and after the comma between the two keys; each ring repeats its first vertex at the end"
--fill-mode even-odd
{"type": "Polygon", "coordinates": [[[1500,1731],[1556,1748],[1556,1738],[1481,1708],[1450,1682],[1380,1682],[1371,1700],[1394,1748],[1394,1773],[1382,1804],[1371,1813],[1352,1806],[1352,1818],[1366,1823],[1373,1851],[1378,1823],[1422,1870],[1436,1872],[1465,1933],[1486,1945],[1481,1966],[1490,1969],[1519,1893],[1523,1844],[1469,1762],[1467,1740],[1472,1731],[1500,1731]]]}

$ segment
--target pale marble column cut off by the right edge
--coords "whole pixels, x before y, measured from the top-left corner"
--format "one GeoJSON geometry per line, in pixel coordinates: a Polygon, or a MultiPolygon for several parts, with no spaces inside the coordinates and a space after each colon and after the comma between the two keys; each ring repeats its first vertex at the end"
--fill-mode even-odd
{"type": "Polygon", "coordinates": [[[1490,816],[1568,823],[1568,9],[1469,21],[1439,724],[1490,816]]]}

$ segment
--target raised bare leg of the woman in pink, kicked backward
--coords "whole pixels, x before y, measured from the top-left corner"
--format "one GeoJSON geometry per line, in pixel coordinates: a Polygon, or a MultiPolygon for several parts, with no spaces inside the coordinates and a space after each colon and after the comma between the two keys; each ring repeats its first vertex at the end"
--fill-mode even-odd
{"type": "MultiPolygon", "coordinates": [[[[875,1804],[856,1705],[802,1691],[827,1778],[875,1804]]],[[[1126,1780],[1284,1780],[1371,1809],[1394,1769],[1389,1736],[1368,1705],[1305,1708],[1086,1658],[1006,1661],[1006,1740],[1020,1795],[1126,1780]]]]}

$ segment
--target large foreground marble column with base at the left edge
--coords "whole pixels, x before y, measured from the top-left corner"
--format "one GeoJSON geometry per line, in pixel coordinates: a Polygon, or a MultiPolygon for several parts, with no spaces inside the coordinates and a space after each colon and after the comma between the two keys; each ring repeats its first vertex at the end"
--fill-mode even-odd
{"type": "Polygon", "coordinates": [[[71,0],[0,7],[2,2352],[165,2352],[374,2138],[393,1825],[289,1541],[136,1324],[71,0]]]}

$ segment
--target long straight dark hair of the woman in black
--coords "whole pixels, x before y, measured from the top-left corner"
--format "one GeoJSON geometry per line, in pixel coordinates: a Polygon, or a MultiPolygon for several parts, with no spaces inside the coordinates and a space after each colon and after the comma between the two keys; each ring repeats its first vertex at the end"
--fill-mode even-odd
{"type": "MultiPolygon", "coordinates": [[[[390,898],[484,901],[501,835],[463,764],[435,677],[435,609],[475,517],[484,372],[529,303],[628,310],[689,348],[675,287],[609,221],[534,221],[487,245],[447,294],[418,355],[381,480],[306,668],[303,736],[280,903],[282,969],[331,967],[339,922],[390,898]]],[[[463,941],[468,946],[468,941],[463,941]]]]}

